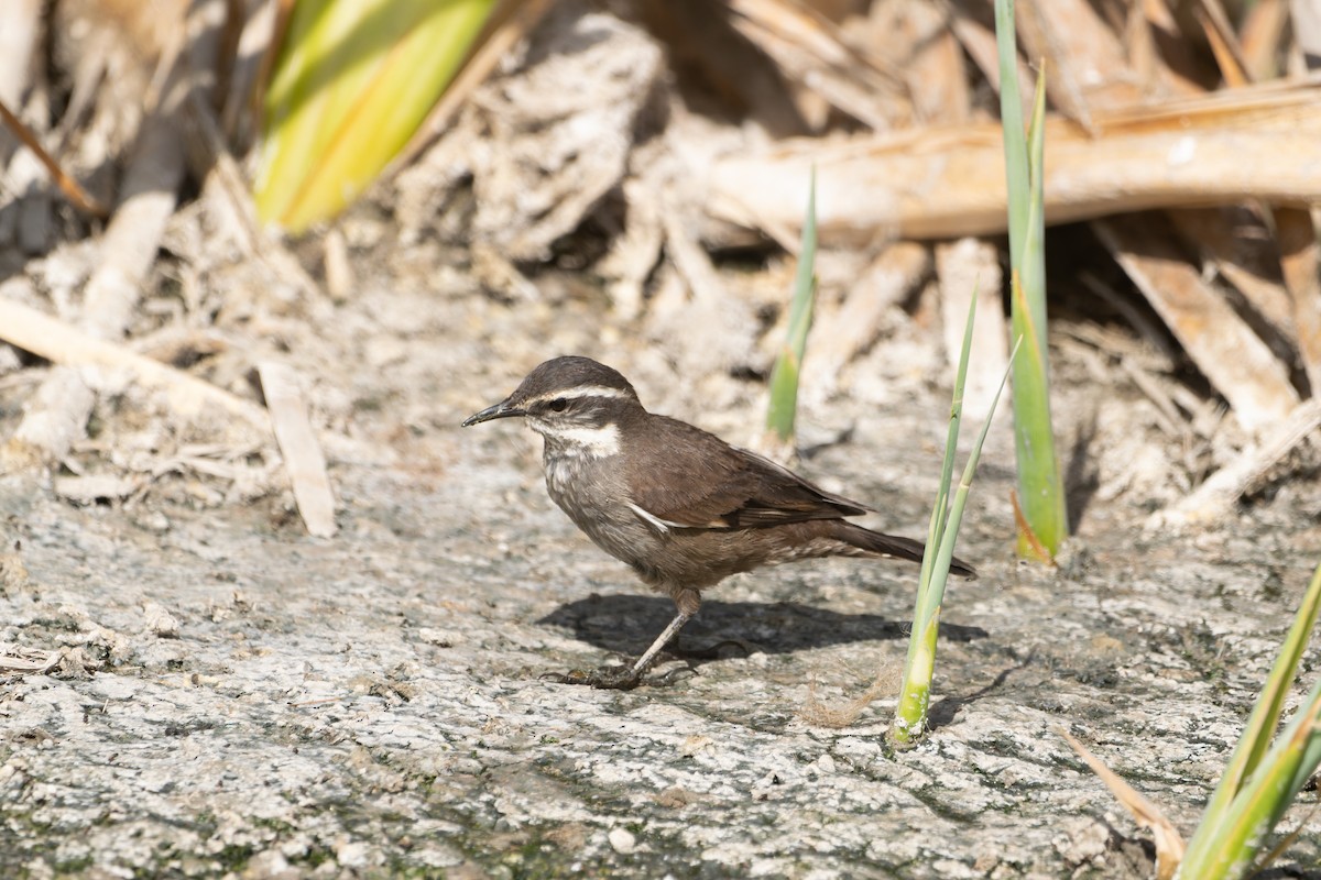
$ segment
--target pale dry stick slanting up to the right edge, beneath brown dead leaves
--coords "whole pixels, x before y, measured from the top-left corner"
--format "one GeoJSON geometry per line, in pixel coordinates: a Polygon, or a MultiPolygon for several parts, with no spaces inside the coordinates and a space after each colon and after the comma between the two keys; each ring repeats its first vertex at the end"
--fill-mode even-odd
{"type": "Polygon", "coordinates": [[[1192,495],[1178,504],[1152,515],[1149,530],[1178,529],[1190,524],[1211,522],[1232,509],[1247,492],[1259,488],[1262,479],[1309,434],[1321,427],[1321,400],[1300,404],[1262,441],[1243,450],[1236,459],[1218,470],[1192,495]]]}

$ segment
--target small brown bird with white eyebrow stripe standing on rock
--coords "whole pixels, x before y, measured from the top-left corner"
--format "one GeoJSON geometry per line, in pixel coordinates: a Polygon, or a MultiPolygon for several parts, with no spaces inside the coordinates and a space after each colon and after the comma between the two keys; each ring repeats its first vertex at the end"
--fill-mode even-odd
{"type": "MultiPolygon", "coordinates": [[[[873,508],[826,492],[715,434],[643,409],[629,380],[589,358],[555,358],[464,421],[522,417],[546,441],[551,499],[678,613],[631,666],[560,681],[635,687],[657,654],[732,574],[820,557],[922,561],[922,544],[845,521],[873,508]]],[[[975,577],[954,561],[951,571],[975,577]]]]}

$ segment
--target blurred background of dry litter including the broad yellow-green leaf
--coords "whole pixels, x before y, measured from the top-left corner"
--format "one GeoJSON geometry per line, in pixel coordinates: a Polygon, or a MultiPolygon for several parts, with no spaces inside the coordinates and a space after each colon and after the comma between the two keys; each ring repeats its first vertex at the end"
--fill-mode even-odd
{"type": "MultiPolygon", "coordinates": [[[[1018,5],[1021,100],[1050,71],[1052,307],[1090,322],[1053,344],[1144,398],[1166,451],[1135,479],[1170,521],[1217,516],[1281,462],[1312,467],[1317,18],[1304,0],[1018,5]]],[[[491,296],[590,289],[646,335],[682,335],[687,369],[765,379],[815,166],[808,398],[838,391],[900,313],[934,307],[956,334],[945,315],[974,290],[992,307],[972,414],[1005,364],[987,0],[15,0],[0,34],[8,299],[99,339],[166,334],[181,314],[221,332],[262,296],[194,292],[161,314],[151,290],[235,249],[283,302],[355,296],[355,269],[383,259],[342,220],[357,202],[361,222],[435,244],[491,296]],[[172,241],[189,212],[214,237],[172,241]]],[[[251,364],[174,330],[172,363],[251,396],[236,380],[251,364]]],[[[24,352],[73,356],[8,342],[9,372],[24,352]]],[[[12,460],[57,460],[86,433],[95,394],[44,385],[57,400],[15,426],[12,460]]],[[[1063,474],[1077,521],[1112,475],[1086,456],[1063,467],[1082,468],[1063,474]]]]}

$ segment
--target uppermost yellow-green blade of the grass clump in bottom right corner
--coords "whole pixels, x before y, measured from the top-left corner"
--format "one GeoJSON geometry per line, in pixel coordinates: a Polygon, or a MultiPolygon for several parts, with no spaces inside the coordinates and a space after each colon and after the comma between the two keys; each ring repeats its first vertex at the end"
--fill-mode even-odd
{"type": "Polygon", "coordinates": [[[1289,628],[1280,654],[1271,668],[1271,674],[1256,698],[1243,736],[1239,738],[1238,745],[1225,767],[1225,773],[1221,774],[1221,781],[1202,813],[1201,825],[1189,843],[1189,848],[1210,846],[1210,840],[1217,840],[1223,835],[1222,826],[1227,821],[1235,797],[1244,781],[1254,774],[1271,745],[1271,735],[1279,727],[1284,701],[1293,685],[1293,676],[1297,673],[1303,653],[1306,650],[1308,639],[1316,628],[1318,613],[1321,613],[1321,566],[1317,566],[1312,575],[1308,591],[1303,595],[1299,612],[1293,617],[1293,625],[1289,628]]]}

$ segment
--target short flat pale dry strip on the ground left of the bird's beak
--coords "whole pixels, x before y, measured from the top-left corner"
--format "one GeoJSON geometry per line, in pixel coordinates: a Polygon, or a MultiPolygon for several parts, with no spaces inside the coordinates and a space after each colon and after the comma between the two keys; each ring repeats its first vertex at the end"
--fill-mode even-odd
{"type": "Polygon", "coordinates": [[[285,364],[266,361],[258,364],[262,394],[271,413],[275,439],[284,455],[284,467],[293,486],[293,500],[299,515],[308,526],[308,534],[329,538],[336,533],[334,492],[326,475],[326,459],[321,453],[308,405],[303,398],[299,376],[285,364]]]}

